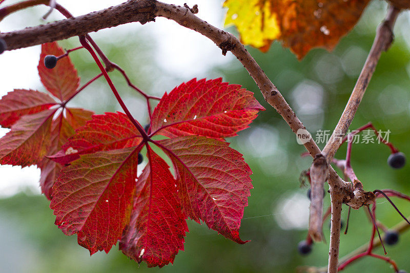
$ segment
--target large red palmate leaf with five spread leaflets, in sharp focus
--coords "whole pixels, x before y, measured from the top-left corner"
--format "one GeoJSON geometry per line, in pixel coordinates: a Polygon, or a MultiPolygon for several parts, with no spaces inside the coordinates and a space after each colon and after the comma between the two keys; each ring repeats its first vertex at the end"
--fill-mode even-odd
{"type": "Polygon", "coordinates": [[[240,153],[218,139],[247,128],[259,110],[252,93],[239,86],[194,79],[165,95],[154,111],[151,131],[171,139],[142,137],[119,112],[93,116],[50,156],[71,163],[52,188],[56,224],[66,235],[77,234],[91,254],[108,251],[122,233],[124,254],[149,266],[174,261],[183,249],[187,217],[245,243],[239,227],[252,172],[240,153]],[[149,162],[136,180],[141,141],[149,162]],[[150,142],[170,157],[175,178],[150,142]]]}

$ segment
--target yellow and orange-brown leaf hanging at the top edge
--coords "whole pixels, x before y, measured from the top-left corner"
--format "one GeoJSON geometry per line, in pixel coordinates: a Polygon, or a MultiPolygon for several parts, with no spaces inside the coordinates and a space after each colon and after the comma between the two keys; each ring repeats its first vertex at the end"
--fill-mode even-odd
{"type": "Polygon", "coordinates": [[[241,41],[267,51],[281,40],[301,59],[312,48],[332,50],[359,20],[369,0],[226,0],[226,25],[241,41]]]}

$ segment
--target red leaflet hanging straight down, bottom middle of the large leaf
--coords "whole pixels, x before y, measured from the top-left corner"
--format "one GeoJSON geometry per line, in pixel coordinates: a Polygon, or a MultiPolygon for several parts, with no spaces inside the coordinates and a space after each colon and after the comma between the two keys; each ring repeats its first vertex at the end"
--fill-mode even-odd
{"type": "Polygon", "coordinates": [[[138,177],[134,209],[119,248],[138,263],[162,267],[183,250],[186,217],[181,211],[176,181],[169,166],[148,146],[147,165],[138,177]]]}

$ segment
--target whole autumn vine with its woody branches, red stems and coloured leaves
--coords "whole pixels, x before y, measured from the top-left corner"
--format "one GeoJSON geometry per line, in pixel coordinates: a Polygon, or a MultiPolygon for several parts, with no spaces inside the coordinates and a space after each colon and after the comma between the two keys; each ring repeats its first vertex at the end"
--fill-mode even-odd
{"type": "MultiPolygon", "coordinates": [[[[37,165],[41,169],[42,192],[51,200],[55,223],[64,234],[76,234],[78,244],[89,249],[91,254],[98,250],[110,251],[120,238],[119,248],[138,263],[145,261],[149,266],[160,267],[173,263],[179,249],[183,249],[188,218],[198,223],[203,221],[234,242],[246,243],[239,237],[239,227],[253,187],[252,171],[242,155],[230,148],[224,138],[247,128],[258,112],[264,110],[253,93],[221,79],[192,79],[161,98],[148,95],[132,83],[125,70],[109,60],[89,33],[131,22],[146,24],[155,21],[156,17],[174,20],[214,41],[223,55],[232,52],[254,79],[264,99],[297,134],[298,130],[305,130],[304,125],[244,44],[267,51],[273,40],[281,40],[299,59],[311,48],[332,50],[340,37],[357,23],[368,1],[312,1],[303,3],[305,6],[298,1],[278,1],[276,5],[273,1],[252,3],[224,2],[228,8],[226,23],[237,26],[242,43],[234,35],[197,17],[197,6],[129,0],[78,17],[48,0],[28,0],[0,8],[0,21],[11,13],[35,5],[48,5],[67,17],[45,25],[0,33],[0,53],[42,44],[38,73],[49,92],[16,89],[0,100],[0,125],[11,129],[0,139],[0,163],[37,165]],[[263,10],[263,16],[255,12],[253,17],[242,17],[244,10],[254,9],[263,10]],[[287,13],[289,10],[294,12],[287,13]],[[338,13],[335,15],[327,12],[329,10],[338,10],[338,13]],[[304,22],[297,19],[306,12],[315,20],[304,22]],[[284,19],[277,21],[277,18],[284,19]],[[334,20],[344,27],[327,24],[334,20]],[[307,25],[310,27],[306,28],[307,25]],[[249,28],[256,28],[252,31],[258,33],[258,38],[249,35],[249,28]],[[306,38],[318,32],[320,38],[306,38]],[[64,51],[55,42],[73,36],[79,38],[77,48],[64,51]],[[82,87],[69,57],[74,50],[87,50],[100,70],[82,87]],[[145,98],[150,117],[147,127],[132,116],[122,100],[110,78],[113,70],[118,70],[128,85],[145,98]],[[67,107],[73,97],[100,77],[106,79],[124,113],[93,115],[84,109],[67,107]],[[154,110],[153,100],[158,100],[154,110]],[[167,139],[154,140],[155,135],[167,139]],[[144,149],[148,163],[141,171],[144,149]],[[172,161],[174,173],[156,149],[172,161]]],[[[391,189],[365,191],[350,161],[352,137],[363,130],[377,130],[367,124],[356,133],[347,134],[378,59],[392,44],[396,18],[401,9],[408,8],[406,1],[395,0],[390,4],[331,139],[323,151],[313,138],[303,143],[314,160],[306,173],[311,183],[311,212],[308,237],[301,247],[302,252],[308,253],[313,242],[323,240],[323,221],[331,215],[329,273],[342,270],[364,256],[385,260],[396,272],[404,272],[391,258],[372,252],[382,245],[379,234],[382,225],[376,218],[375,200],[386,198],[392,203],[406,221],[403,227],[397,228],[402,232],[410,222],[389,197],[409,201],[410,197],[391,189]],[[346,158],[335,159],[336,151],[344,142],[347,142],[346,158]],[[343,172],[343,179],[332,164],[343,172]],[[326,181],[330,185],[332,206],[323,215],[322,191],[326,181]],[[366,208],[374,227],[367,247],[359,248],[339,262],[342,204],[354,209],[366,208]],[[376,234],[379,234],[379,240],[376,234]]],[[[391,165],[402,166],[404,155],[392,143],[383,143],[391,149],[391,165]]],[[[309,270],[321,272],[326,269],[309,270]]]]}

